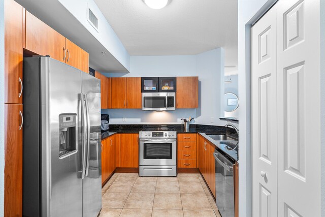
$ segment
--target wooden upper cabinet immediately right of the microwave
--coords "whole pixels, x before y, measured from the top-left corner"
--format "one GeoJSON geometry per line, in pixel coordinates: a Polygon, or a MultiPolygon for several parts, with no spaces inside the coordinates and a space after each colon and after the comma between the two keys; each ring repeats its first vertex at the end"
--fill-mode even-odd
{"type": "Polygon", "coordinates": [[[176,108],[199,107],[199,77],[177,77],[176,108]]]}

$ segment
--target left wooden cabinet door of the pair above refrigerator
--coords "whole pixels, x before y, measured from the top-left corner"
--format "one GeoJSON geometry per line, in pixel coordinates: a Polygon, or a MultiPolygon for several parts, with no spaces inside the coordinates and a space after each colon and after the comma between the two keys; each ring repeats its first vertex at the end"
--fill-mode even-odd
{"type": "Polygon", "coordinates": [[[25,29],[27,50],[39,55],[50,55],[53,59],[64,63],[66,38],[28,11],[26,11],[25,29]]]}

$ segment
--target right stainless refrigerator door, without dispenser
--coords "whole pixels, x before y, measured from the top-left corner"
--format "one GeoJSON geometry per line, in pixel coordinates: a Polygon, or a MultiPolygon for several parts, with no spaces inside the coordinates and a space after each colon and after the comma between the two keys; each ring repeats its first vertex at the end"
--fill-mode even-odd
{"type": "Polygon", "coordinates": [[[101,85],[100,80],[81,72],[88,122],[86,173],[82,179],[83,217],[97,216],[102,208],[101,85]]]}

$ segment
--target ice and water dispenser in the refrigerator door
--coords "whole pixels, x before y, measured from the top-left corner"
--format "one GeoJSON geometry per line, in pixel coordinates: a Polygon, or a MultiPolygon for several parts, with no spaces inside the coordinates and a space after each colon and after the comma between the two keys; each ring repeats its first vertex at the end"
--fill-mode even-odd
{"type": "Polygon", "coordinates": [[[71,156],[77,152],[77,114],[59,114],[59,158],[71,156]]]}

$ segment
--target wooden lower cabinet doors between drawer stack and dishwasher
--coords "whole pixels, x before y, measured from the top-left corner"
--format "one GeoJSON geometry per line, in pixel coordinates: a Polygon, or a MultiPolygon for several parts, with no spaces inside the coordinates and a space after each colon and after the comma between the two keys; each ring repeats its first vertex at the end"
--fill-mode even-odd
{"type": "Polygon", "coordinates": [[[199,161],[199,170],[203,175],[203,178],[208,184],[212,194],[216,197],[215,194],[215,162],[214,162],[214,153],[215,146],[211,144],[204,137],[200,136],[199,138],[199,148],[198,148],[198,161],[199,161]]]}

